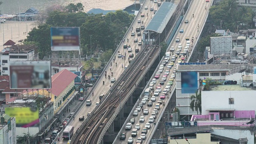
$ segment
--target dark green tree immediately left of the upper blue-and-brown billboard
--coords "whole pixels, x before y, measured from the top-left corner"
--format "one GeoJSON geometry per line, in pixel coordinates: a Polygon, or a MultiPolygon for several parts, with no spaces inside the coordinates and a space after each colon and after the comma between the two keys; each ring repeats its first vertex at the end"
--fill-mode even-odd
{"type": "Polygon", "coordinates": [[[51,53],[50,27],[48,24],[43,24],[38,28],[33,28],[24,40],[27,44],[32,43],[38,46],[40,59],[51,53]]]}

